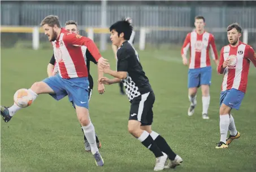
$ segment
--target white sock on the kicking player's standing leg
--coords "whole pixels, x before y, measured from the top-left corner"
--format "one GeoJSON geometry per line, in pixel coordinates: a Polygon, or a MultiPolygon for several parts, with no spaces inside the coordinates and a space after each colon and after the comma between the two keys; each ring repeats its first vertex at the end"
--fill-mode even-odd
{"type": "Polygon", "coordinates": [[[95,130],[92,122],[88,126],[82,126],[84,130],[84,135],[88,140],[91,148],[91,152],[94,155],[97,151],[99,151],[97,144],[96,144],[96,137],[95,137],[95,130]]]}

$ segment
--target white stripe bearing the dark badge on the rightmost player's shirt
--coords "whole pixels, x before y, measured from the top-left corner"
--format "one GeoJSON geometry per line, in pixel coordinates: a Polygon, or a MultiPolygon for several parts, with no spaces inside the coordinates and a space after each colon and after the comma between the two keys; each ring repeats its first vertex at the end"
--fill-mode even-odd
{"type": "Polygon", "coordinates": [[[242,77],[242,60],[244,59],[244,53],[243,54],[238,54],[239,51],[245,52],[245,47],[246,45],[241,44],[240,46],[237,47],[237,64],[236,64],[236,73],[235,73],[235,78],[233,81],[232,88],[237,89],[240,86],[240,81],[242,77]]]}

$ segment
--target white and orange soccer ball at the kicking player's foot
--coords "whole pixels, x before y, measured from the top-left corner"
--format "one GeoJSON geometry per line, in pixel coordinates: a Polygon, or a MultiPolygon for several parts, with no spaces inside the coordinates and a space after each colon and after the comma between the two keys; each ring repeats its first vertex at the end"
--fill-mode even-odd
{"type": "Polygon", "coordinates": [[[20,89],[14,94],[14,102],[21,108],[28,107],[32,104],[33,98],[28,89],[20,89]]]}

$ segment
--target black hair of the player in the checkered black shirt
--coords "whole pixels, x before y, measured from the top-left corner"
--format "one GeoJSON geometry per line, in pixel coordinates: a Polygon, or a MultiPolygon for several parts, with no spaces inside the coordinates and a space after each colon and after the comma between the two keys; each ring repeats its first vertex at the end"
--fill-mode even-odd
{"type": "Polygon", "coordinates": [[[111,30],[115,30],[118,32],[118,36],[123,32],[124,33],[124,39],[129,40],[132,34],[133,27],[131,25],[131,19],[125,19],[123,17],[120,21],[117,21],[116,23],[112,24],[109,28],[110,32],[111,30]]]}

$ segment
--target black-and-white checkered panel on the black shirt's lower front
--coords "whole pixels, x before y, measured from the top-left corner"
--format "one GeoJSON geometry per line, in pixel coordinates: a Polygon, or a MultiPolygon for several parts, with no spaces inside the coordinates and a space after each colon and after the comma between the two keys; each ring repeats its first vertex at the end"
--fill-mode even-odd
{"type": "Polygon", "coordinates": [[[124,83],[125,92],[128,96],[129,101],[141,95],[140,91],[138,90],[138,87],[132,81],[132,78],[130,76],[127,75],[127,78],[125,80],[122,80],[122,82],[124,83]]]}

